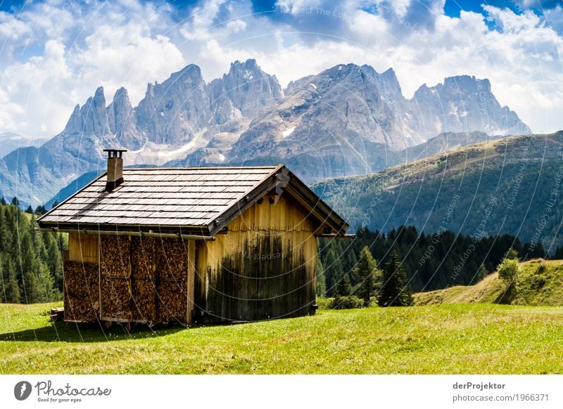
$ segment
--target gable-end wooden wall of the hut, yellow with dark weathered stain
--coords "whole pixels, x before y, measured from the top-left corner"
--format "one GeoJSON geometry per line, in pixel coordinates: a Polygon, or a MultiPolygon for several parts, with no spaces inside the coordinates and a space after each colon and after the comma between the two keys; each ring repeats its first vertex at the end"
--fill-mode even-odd
{"type": "Polygon", "coordinates": [[[196,309],[207,321],[311,313],[317,228],[291,197],[264,197],[215,242],[198,242],[196,309]]]}

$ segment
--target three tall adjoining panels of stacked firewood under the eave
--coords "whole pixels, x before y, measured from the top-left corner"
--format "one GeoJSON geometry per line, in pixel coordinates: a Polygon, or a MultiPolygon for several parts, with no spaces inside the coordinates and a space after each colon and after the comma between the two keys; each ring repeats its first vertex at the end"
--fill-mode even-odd
{"type": "Polygon", "coordinates": [[[187,242],[103,236],[100,259],[103,318],[186,322],[187,242]]]}

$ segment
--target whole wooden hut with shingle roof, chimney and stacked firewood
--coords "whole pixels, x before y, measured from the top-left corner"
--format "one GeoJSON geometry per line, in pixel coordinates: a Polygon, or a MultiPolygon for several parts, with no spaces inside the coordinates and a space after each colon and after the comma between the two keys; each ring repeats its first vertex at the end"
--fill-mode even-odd
{"type": "Polygon", "coordinates": [[[39,218],[69,234],[64,319],[192,323],[315,311],[318,237],[348,225],[283,165],[108,172],[39,218]]]}

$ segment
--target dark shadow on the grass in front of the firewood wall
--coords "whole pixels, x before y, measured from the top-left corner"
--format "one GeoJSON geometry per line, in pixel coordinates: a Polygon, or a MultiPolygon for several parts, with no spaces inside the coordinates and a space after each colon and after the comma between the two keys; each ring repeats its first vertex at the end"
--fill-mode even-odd
{"type": "Polygon", "coordinates": [[[111,342],[124,339],[146,339],[172,335],[186,329],[182,326],[148,327],[135,325],[130,330],[122,325],[109,329],[98,324],[51,323],[44,327],[0,334],[0,342],[111,342]]]}

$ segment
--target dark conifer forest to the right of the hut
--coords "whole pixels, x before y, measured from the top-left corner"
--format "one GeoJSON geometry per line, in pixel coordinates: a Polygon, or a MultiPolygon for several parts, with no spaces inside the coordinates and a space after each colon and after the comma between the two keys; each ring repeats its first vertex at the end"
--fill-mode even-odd
{"type": "MultiPolygon", "coordinates": [[[[318,295],[334,297],[343,279],[350,282],[351,288],[359,284],[354,268],[364,247],[372,253],[380,269],[396,251],[415,292],[477,283],[495,271],[510,248],[516,250],[521,259],[546,257],[541,245],[532,248],[508,234],[474,238],[448,230],[419,233],[414,226],[400,226],[388,233],[364,229],[351,240],[322,239],[319,242],[318,295]]],[[[557,249],[554,256],[559,254],[563,254],[561,249],[557,249]]]]}

